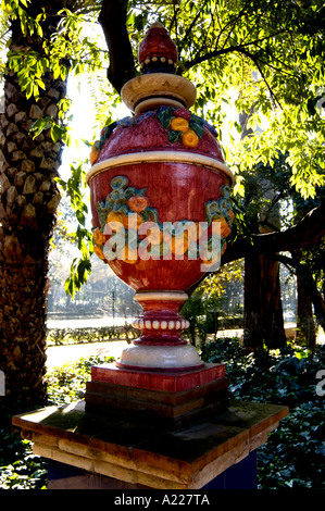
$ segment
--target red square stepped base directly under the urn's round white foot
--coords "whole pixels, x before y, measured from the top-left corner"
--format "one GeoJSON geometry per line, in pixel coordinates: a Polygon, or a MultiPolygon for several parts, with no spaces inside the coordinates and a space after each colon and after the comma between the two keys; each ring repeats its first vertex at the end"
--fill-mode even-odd
{"type": "Polygon", "coordinates": [[[92,367],[85,401],[86,411],[114,412],[128,419],[135,415],[179,427],[225,410],[228,378],[224,364],[182,372],[133,371],[105,364],[92,367]]]}

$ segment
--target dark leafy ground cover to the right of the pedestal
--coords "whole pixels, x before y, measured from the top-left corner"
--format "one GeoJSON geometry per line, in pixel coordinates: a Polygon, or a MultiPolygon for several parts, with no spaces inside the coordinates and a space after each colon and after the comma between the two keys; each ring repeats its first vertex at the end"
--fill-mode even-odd
{"type": "Polygon", "coordinates": [[[226,363],[233,398],[289,407],[258,450],[260,488],[324,488],[324,397],[316,395],[324,356],[324,346],[313,361],[308,350],[295,347],[253,354],[236,338],[217,339],[202,354],[205,362],[226,363]]]}

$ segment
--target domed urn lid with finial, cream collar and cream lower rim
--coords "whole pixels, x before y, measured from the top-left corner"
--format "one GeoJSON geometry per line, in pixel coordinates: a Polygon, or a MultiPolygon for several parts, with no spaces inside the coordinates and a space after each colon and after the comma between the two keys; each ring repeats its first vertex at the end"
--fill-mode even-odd
{"type": "Polygon", "coordinates": [[[213,126],[189,111],[197,89],[175,74],[176,45],[167,30],[153,24],[139,47],[142,74],[122,88],[124,103],[135,114],[105,126],[91,149],[89,180],[108,166],[136,162],[191,162],[227,169],[213,126]]]}

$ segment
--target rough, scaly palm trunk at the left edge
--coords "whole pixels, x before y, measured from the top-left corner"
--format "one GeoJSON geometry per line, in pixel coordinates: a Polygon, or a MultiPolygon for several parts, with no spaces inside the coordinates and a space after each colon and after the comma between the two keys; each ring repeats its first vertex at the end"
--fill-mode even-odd
{"type": "Polygon", "coordinates": [[[61,79],[45,78],[37,103],[26,100],[15,73],[5,76],[0,146],[0,369],[4,406],[46,400],[46,298],[49,241],[60,195],[54,178],[62,142],[50,130],[33,140],[30,125],[52,115],[66,94],[61,79]]]}

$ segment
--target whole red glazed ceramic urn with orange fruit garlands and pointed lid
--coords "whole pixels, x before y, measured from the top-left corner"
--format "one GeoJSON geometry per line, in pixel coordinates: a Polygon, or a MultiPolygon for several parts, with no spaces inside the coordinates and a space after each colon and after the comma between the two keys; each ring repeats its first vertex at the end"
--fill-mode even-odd
{"type": "Polygon", "coordinates": [[[234,220],[233,175],[213,127],[189,111],[196,87],[173,74],[176,59],[165,28],[152,25],[139,49],[143,74],[121,92],[133,115],[105,126],[90,154],[95,252],[143,309],[124,369],[203,365],[180,337],[189,325],[178,311],[218,266],[234,220]]]}

